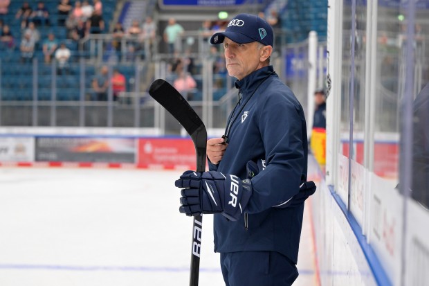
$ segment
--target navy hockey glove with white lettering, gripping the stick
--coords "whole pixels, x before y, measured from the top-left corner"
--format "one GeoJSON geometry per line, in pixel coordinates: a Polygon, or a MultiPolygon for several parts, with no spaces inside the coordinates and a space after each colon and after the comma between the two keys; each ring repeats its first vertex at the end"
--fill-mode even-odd
{"type": "Polygon", "coordinates": [[[252,184],[249,179],[241,181],[235,175],[221,172],[186,171],[176,181],[181,191],[179,211],[186,215],[222,213],[229,220],[238,220],[246,207],[252,184]]]}

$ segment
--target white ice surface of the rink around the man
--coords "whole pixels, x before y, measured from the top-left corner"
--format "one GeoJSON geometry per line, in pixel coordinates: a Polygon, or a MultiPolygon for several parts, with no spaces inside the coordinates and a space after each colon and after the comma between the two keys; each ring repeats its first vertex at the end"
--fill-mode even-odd
{"type": "MultiPolygon", "coordinates": [[[[0,285],[188,285],[181,171],[0,168],[0,285]]],[[[306,203],[298,286],[318,285],[306,203]]],[[[199,285],[224,285],[203,216],[199,285]]]]}

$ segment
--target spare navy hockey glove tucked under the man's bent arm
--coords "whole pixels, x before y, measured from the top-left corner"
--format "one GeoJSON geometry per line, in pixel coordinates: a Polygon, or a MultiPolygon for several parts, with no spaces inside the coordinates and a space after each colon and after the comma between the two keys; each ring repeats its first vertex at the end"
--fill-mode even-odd
{"type": "MultiPolygon", "coordinates": [[[[255,177],[259,172],[264,170],[266,167],[265,160],[258,160],[257,162],[254,161],[248,161],[247,162],[247,176],[248,179],[252,179],[255,177]]],[[[294,195],[290,199],[286,200],[285,202],[281,202],[280,204],[277,204],[276,206],[273,206],[275,208],[287,208],[287,207],[295,207],[300,206],[301,204],[304,204],[305,200],[313,195],[313,193],[316,192],[316,185],[313,181],[305,181],[300,186],[300,191],[298,194],[294,195]]]]}

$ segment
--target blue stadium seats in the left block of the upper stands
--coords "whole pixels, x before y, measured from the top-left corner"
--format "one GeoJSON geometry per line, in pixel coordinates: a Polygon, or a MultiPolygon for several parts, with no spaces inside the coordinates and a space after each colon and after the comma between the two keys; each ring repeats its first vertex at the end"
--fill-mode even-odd
{"type": "MultiPolygon", "coordinates": [[[[37,6],[38,1],[28,1],[31,8],[37,6]]],[[[8,15],[3,16],[3,22],[10,26],[12,35],[15,37],[15,49],[13,51],[0,51],[1,54],[1,100],[33,100],[33,65],[21,63],[21,53],[19,52],[19,42],[22,37],[21,21],[15,19],[15,14],[21,8],[24,0],[10,1],[8,15]]],[[[71,39],[67,39],[67,30],[64,26],[58,25],[59,16],[57,15],[57,0],[44,0],[45,7],[48,9],[49,25],[37,27],[40,33],[40,42],[47,38],[48,33],[53,33],[57,41],[66,43],[71,48],[72,57],[69,74],[57,75],[56,87],[61,89],[57,91],[57,100],[78,100],[80,96],[79,78],[80,69],[78,59],[85,55],[76,51],[76,46],[71,39]]],[[[109,31],[110,23],[113,19],[113,12],[116,8],[115,0],[102,0],[103,19],[105,22],[105,31],[109,31]]],[[[74,1],[71,1],[74,5],[74,1]]],[[[38,100],[51,100],[52,98],[52,74],[51,64],[44,64],[42,54],[42,44],[35,51],[37,59],[37,98],[38,100]]],[[[91,78],[95,75],[95,66],[91,63],[86,64],[85,75],[86,89],[91,89],[91,78]]]]}

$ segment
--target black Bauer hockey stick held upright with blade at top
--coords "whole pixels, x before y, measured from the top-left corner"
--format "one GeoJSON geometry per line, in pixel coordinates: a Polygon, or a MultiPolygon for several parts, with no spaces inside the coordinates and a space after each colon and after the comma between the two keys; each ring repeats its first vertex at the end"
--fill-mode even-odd
{"type": "MultiPolygon", "coordinates": [[[[206,170],[206,144],[207,131],[203,121],[190,107],[189,103],[165,80],[155,80],[149,87],[149,94],[167,109],[176,120],[185,128],[191,136],[197,152],[197,172],[206,170]]],[[[201,231],[203,228],[203,217],[194,216],[192,227],[192,256],[190,286],[198,285],[199,278],[199,258],[201,253],[201,231]]]]}

